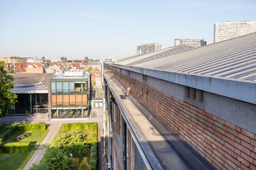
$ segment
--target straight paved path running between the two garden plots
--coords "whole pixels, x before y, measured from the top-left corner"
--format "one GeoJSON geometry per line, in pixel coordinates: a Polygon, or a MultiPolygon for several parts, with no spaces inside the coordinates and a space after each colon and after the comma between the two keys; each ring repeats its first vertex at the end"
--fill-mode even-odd
{"type": "Polygon", "coordinates": [[[27,170],[29,169],[30,166],[32,166],[32,164],[34,163],[38,164],[41,161],[41,159],[43,158],[43,154],[46,153],[47,145],[50,144],[50,142],[53,140],[53,138],[57,134],[58,130],[60,129],[60,125],[61,123],[54,123],[49,126],[48,134],[46,135],[40,147],[36,149],[36,152],[33,154],[33,156],[28,161],[28,163],[26,164],[23,170],[27,170]]]}

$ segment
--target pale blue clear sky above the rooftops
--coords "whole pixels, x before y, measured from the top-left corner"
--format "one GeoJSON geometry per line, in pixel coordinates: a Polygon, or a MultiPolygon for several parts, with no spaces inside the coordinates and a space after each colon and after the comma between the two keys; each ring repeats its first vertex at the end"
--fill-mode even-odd
{"type": "Polygon", "coordinates": [[[137,54],[175,38],[213,43],[213,25],[256,21],[255,0],[0,0],[0,56],[50,60],[137,54]]]}

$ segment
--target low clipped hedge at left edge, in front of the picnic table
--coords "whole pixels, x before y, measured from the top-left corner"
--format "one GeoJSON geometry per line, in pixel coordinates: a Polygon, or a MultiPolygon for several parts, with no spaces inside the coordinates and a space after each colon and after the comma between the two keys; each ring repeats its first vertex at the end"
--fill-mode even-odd
{"type": "Polygon", "coordinates": [[[0,145],[0,154],[28,152],[30,142],[10,142],[0,145]]]}

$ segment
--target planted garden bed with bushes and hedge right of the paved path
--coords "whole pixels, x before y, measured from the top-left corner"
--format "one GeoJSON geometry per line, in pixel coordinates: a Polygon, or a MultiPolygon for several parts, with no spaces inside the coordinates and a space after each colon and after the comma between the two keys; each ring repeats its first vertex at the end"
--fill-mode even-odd
{"type": "Polygon", "coordinates": [[[97,169],[97,123],[61,125],[41,162],[30,170],[35,169],[97,169]]]}

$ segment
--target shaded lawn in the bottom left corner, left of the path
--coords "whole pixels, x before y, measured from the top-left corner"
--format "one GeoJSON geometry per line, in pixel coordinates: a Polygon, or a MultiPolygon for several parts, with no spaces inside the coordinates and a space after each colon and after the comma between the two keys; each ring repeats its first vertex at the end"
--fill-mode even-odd
{"type": "Polygon", "coordinates": [[[23,169],[28,163],[29,159],[36,152],[39,145],[31,145],[30,152],[26,153],[14,153],[14,154],[0,154],[0,169],[2,170],[14,170],[23,169]]]}

